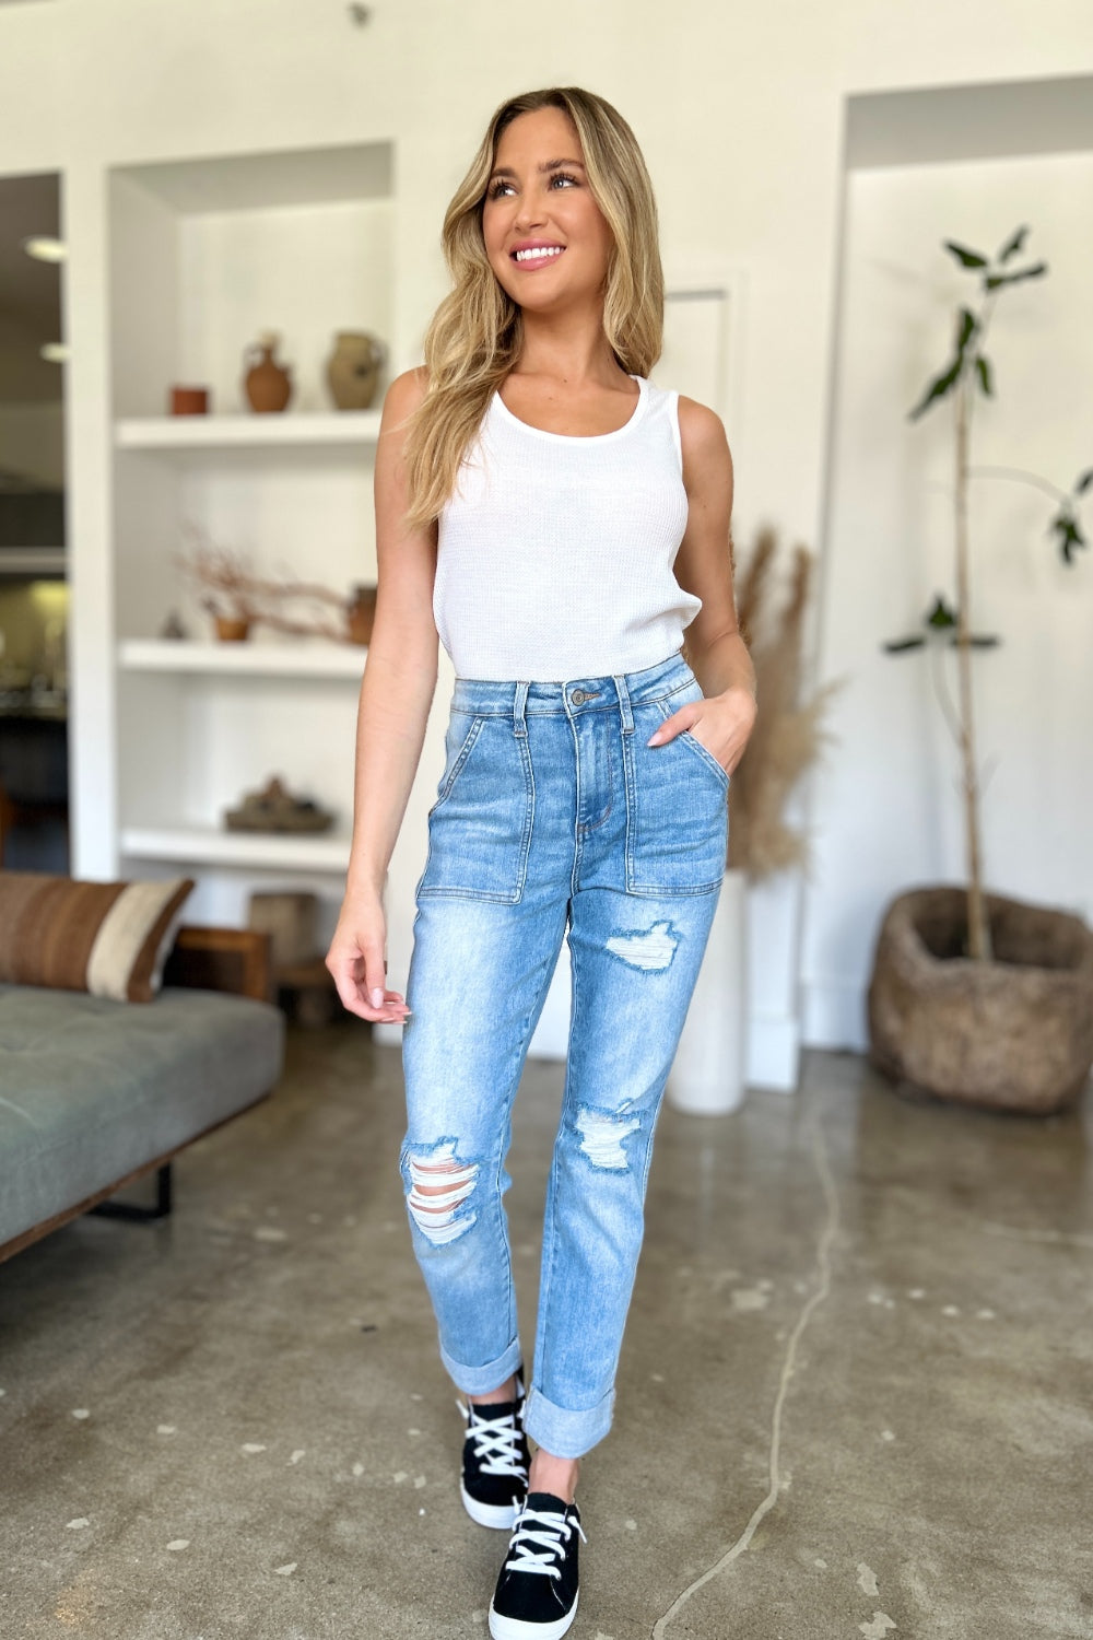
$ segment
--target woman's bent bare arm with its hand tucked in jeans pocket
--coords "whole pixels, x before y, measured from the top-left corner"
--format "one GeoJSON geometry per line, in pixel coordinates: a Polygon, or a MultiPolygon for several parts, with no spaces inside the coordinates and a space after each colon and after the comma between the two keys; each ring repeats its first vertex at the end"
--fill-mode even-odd
{"type": "Polygon", "coordinates": [[[732,456],[721,418],[693,399],[680,399],[680,440],[688,515],[675,579],[701,599],[701,610],[687,628],[687,651],[706,699],[680,707],[651,745],[690,730],[731,774],[757,715],[755,669],[737,626],[732,592],[732,456]]]}

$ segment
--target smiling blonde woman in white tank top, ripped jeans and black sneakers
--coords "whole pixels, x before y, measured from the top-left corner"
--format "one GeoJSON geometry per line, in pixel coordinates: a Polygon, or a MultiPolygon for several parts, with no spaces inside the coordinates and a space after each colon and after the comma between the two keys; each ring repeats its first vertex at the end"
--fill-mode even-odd
{"type": "Polygon", "coordinates": [[[626,121],[577,89],[503,103],[444,248],[454,290],[426,364],[383,405],[379,607],[328,966],[351,1012],[405,1023],[400,1166],[441,1358],[465,1396],[460,1494],[474,1520],[511,1532],[490,1633],[557,1640],[577,1609],[578,1460],[611,1422],[652,1130],[755,676],[724,430],[647,380],[664,282],[626,121]],[[439,640],[456,689],[403,999],[385,987],[382,886],[439,640]],[[503,1163],[564,936],[565,1105],[524,1397],[503,1163]]]}

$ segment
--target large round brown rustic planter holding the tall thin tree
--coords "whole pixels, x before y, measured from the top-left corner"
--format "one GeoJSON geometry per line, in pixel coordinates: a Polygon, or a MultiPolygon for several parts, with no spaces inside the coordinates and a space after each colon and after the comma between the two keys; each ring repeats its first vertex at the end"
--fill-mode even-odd
{"type": "Polygon", "coordinates": [[[967,892],[913,889],[885,913],[869,1058],[939,1099],[1049,1115],[1093,1064],[1093,932],[1068,912],[985,895],[993,959],[960,956],[967,892]]]}

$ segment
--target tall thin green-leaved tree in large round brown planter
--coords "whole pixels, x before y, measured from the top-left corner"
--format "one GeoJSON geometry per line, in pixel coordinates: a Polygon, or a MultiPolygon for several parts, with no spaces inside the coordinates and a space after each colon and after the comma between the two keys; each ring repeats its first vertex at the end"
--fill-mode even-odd
{"type": "Polygon", "coordinates": [[[978,471],[1036,484],[1054,495],[1049,533],[1067,564],[1088,543],[1080,499],[1093,467],[1070,494],[1036,474],[973,469],[972,407],[977,392],[993,397],[995,372],[985,353],[1000,294],[1041,279],[1044,262],[1011,269],[1027,228],[1019,228],[991,262],[954,241],[946,249],[980,284],[978,307],[960,307],[952,359],[909,412],[918,420],[942,399],[954,402],[955,440],[955,610],[937,597],[926,631],[885,645],[890,653],[926,643],[955,645],[959,694],[954,735],[960,756],[967,886],[921,887],[888,905],[869,984],[869,1055],[896,1082],[942,1099],[1045,1114],[1077,1097],[1093,1063],[1093,933],[1068,912],[990,894],[983,887],[980,782],[975,749],[972,651],[998,643],[972,628],[968,481],[978,471]]]}

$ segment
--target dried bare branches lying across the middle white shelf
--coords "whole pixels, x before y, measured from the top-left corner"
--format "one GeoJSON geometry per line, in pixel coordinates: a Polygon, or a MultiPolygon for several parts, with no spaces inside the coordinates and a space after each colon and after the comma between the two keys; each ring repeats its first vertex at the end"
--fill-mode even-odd
{"type": "Polygon", "coordinates": [[[197,584],[202,608],[210,615],[272,626],[300,638],[352,643],[347,625],[351,600],[339,592],[306,581],[264,579],[252,574],[244,554],[215,546],[195,525],[185,525],[184,531],[195,546],[177,563],[197,584]],[[297,604],[300,608],[297,613],[285,613],[285,604],[297,604]],[[331,622],[324,610],[336,612],[336,620],[331,622]]]}

